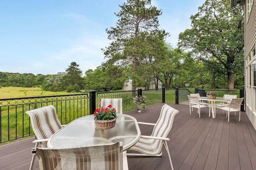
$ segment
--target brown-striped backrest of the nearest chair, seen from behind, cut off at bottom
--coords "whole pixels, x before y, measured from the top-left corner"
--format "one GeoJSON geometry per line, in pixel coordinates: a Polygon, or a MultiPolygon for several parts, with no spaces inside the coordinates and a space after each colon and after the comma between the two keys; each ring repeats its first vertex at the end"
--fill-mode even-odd
{"type": "Polygon", "coordinates": [[[122,170],[123,144],[77,148],[34,148],[40,170],[122,170]]]}

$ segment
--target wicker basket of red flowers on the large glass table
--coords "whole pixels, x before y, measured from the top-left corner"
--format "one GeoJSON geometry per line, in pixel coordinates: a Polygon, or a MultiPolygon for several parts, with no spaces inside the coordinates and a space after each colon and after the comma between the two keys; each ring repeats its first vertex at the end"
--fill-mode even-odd
{"type": "Polygon", "coordinates": [[[110,129],[116,125],[116,109],[111,105],[97,108],[94,111],[94,123],[96,129],[110,129]]]}

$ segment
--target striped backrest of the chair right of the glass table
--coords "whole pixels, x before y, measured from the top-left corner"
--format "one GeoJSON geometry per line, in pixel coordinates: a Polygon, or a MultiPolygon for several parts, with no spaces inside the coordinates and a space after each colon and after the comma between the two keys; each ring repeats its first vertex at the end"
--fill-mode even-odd
{"type": "MultiPolygon", "coordinates": [[[[174,116],[178,112],[178,110],[172,108],[171,106],[168,106],[167,104],[162,106],[160,116],[156,122],[156,125],[154,126],[151,136],[167,137],[170,130],[172,129],[174,116]]],[[[155,147],[157,148],[158,151],[156,152],[160,152],[162,149],[163,142],[162,140],[156,140],[156,142],[152,145],[155,145],[155,147]]]]}

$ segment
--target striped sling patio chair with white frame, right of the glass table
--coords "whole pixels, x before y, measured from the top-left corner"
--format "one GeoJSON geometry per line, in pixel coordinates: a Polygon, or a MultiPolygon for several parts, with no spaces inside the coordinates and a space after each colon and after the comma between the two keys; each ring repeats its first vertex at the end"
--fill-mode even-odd
{"type": "Polygon", "coordinates": [[[170,141],[170,139],[167,138],[167,135],[172,128],[174,116],[178,112],[178,110],[165,104],[161,109],[160,117],[156,123],[138,122],[139,124],[144,125],[154,125],[154,129],[151,136],[141,135],[140,140],[133,147],[128,149],[136,150],[141,154],[127,153],[127,156],[161,156],[162,146],[164,145],[173,170],[172,160],[166,141],[170,141]]]}

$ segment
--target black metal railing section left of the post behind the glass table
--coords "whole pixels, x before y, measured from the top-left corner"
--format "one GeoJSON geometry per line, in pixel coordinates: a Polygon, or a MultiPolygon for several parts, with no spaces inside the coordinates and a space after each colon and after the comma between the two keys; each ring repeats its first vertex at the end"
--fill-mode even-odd
{"type": "Polygon", "coordinates": [[[62,124],[89,114],[88,94],[0,99],[0,143],[34,135],[25,112],[48,105],[62,124]]]}

